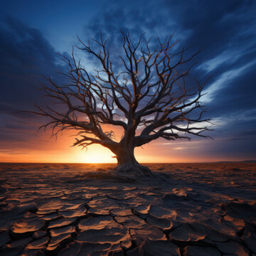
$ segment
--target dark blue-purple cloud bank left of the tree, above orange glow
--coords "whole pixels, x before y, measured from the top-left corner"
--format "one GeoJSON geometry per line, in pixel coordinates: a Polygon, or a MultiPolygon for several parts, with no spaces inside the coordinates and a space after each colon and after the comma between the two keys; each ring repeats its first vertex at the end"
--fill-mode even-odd
{"type": "Polygon", "coordinates": [[[38,90],[46,82],[42,75],[62,67],[57,65],[55,50],[36,28],[14,18],[2,20],[0,26],[0,148],[4,149],[12,142],[33,140],[40,119],[21,110],[32,110],[33,102],[42,102],[43,93],[38,90]]]}

